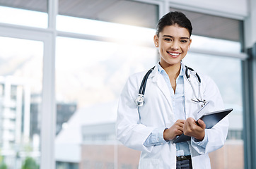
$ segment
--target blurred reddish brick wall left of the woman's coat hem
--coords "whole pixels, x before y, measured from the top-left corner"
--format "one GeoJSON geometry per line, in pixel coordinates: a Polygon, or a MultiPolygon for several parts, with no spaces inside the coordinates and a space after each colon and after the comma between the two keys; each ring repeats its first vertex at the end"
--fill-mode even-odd
{"type": "Polygon", "coordinates": [[[82,145],[79,169],[136,169],[139,164],[140,151],[123,145],[82,145]],[[115,154],[117,152],[117,154],[115,154]]]}

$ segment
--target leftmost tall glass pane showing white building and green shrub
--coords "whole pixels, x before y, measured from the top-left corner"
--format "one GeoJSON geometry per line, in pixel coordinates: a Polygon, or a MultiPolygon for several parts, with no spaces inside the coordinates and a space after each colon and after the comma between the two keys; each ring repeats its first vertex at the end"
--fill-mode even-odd
{"type": "Polygon", "coordinates": [[[40,160],[42,42],[0,37],[0,165],[40,160]]]}

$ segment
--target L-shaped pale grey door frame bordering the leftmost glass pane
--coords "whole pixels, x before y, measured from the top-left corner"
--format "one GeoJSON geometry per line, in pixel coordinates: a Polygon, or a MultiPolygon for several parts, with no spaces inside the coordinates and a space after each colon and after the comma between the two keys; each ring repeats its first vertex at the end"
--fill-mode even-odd
{"type": "Polygon", "coordinates": [[[54,97],[54,35],[42,29],[9,24],[0,25],[0,36],[30,39],[44,43],[42,111],[41,111],[41,165],[40,168],[54,168],[55,97],[54,97]]]}

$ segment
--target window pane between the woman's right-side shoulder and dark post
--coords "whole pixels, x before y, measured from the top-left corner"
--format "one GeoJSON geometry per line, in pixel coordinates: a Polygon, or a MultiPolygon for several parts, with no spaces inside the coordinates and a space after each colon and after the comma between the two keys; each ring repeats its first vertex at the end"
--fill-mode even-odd
{"type": "Polygon", "coordinates": [[[228,116],[228,139],[223,148],[209,154],[211,168],[243,168],[243,104],[241,63],[237,58],[188,54],[185,65],[197,73],[209,75],[216,82],[226,108],[233,108],[228,116]],[[236,154],[233,156],[233,154],[236,154]]]}

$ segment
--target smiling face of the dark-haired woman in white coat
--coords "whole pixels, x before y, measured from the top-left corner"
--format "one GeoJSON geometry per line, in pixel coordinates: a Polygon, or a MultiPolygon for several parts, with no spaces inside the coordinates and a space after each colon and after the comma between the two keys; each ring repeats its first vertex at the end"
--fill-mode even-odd
{"type": "Polygon", "coordinates": [[[186,28],[178,25],[165,26],[159,32],[159,37],[154,36],[161,66],[166,68],[170,65],[180,65],[180,61],[187,55],[191,42],[190,33],[186,28]]]}

